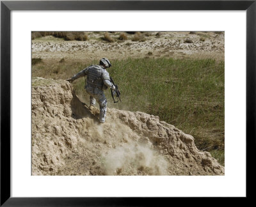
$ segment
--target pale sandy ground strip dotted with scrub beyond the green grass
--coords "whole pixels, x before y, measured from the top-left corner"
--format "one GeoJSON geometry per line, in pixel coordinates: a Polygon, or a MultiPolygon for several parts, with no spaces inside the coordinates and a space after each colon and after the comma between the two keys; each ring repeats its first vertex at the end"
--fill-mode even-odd
{"type": "Polygon", "coordinates": [[[88,32],[87,41],[65,41],[54,36],[32,40],[32,57],[42,59],[125,59],[128,57],[214,58],[224,60],[223,32],[144,32],[145,41],[118,40],[120,32],[110,33],[115,42],[102,40],[103,32],[88,32]],[[187,43],[186,40],[191,40],[187,43]]]}

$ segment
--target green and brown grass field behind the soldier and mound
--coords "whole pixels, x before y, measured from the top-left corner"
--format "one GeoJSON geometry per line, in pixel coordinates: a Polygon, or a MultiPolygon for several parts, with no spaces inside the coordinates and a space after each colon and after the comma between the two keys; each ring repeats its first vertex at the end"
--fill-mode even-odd
{"type": "MultiPolygon", "coordinates": [[[[67,79],[88,65],[65,63],[33,65],[33,77],[67,79]],[[58,73],[56,73],[56,71],[58,73]]],[[[147,58],[111,60],[109,74],[118,84],[122,103],[108,106],[159,116],[195,137],[200,150],[210,151],[224,165],[224,62],[213,59],[147,58]]],[[[77,95],[88,102],[84,79],[74,82],[77,95]]]]}

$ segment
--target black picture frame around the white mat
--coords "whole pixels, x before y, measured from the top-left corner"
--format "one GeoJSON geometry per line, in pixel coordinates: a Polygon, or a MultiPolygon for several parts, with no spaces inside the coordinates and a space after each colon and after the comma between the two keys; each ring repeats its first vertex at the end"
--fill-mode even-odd
{"type": "MultiPolygon", "coordinates": [[[[256,1],[1,1],[1,206],[150,206],[168,198],[10,197],[10,12],[12,10],[246,10],[246,197],[255,183],[256,1]]],[[[239,123],[237,123],[238,125],[239,123]]],[[[167,201],[168,202],[168,201],[167,201]]]]}

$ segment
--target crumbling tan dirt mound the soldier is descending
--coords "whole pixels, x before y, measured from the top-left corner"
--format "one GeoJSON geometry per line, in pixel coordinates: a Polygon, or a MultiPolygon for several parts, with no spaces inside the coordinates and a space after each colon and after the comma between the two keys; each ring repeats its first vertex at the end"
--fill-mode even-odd
{"type": "Polygon", "coordinates": [[[67,81],[32,80],[33,175],[221,175],[191,135],[143,112],[88,110],[67,81]]]}

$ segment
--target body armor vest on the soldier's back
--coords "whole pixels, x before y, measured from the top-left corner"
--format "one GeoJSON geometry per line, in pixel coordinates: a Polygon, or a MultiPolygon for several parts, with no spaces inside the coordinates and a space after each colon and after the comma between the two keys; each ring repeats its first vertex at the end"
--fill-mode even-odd
{"type": "Polygon", "coordinates": [[[86,84],[97,87],[102,89],[103,87],[103,80],[102,80],[102,73],[103,68],[98,65],[92,65],[90,68],[88,68],[88,75],[87,75],[87,81],[86,84]]]}

